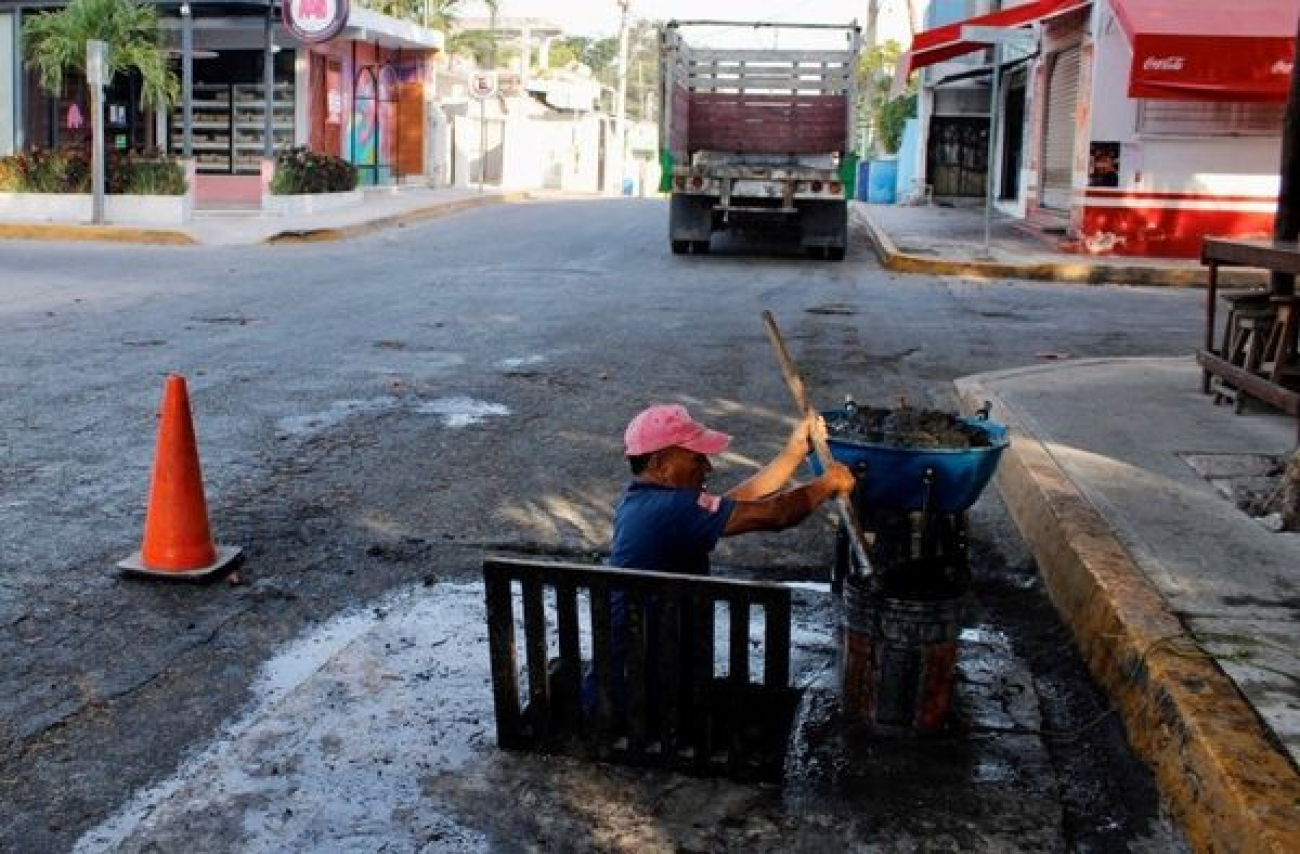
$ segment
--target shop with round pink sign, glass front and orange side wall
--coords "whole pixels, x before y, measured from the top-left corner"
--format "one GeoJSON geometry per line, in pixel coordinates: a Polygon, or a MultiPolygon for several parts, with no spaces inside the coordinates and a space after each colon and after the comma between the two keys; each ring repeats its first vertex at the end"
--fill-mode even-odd
{"type": "MultiPolygon", "coordinates": [[[[105,92],[108,144],[192,159],[199,207],[260,204],[276,151],[294,144],[352,161],[364,183],[422,174],[424,82],[442,34],[339,0],[286,5],[287,19],[278,0],[159,3],[181,100],[168,114],[146,113],[135,75],[117,75],[105,92]],[[315,30],[295,26],[295,6],[304,18],[338,18],[315,30]]],[[[69,74],[56,97],[18,58],[22,18],[57,8],[0,0],[0,51],[8,45],[14,56],[5,65],[9,109],[0,73],[0,151],[4,116],[13,149],[88,138],[82,75],[69,74]]]]}

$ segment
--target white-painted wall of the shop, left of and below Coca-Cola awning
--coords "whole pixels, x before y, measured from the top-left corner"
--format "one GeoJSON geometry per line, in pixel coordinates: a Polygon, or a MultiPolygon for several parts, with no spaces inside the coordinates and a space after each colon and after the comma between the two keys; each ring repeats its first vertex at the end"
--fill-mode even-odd
{"type": "Polygon", "coordinates": [[[1089,139],[1121,144],[1121,188],[1278,192],[1280,127],[1275,136],[1167,138],[1138,133],[1138,101],[1126,95],[1132,51],[1109,6],[1097,10],[1089,139]]]}

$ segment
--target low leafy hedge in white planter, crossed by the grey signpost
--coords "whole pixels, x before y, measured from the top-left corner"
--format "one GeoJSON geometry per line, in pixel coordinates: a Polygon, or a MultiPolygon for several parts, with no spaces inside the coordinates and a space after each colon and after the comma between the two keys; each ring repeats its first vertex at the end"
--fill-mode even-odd
{"type": "MultiPolygon", "coordinates": [[[[81,146],[31,148],[0,157],[0,190],[9,192],[90,192],[91,157],[81,146]]],[[[104,191],[114,195],[183,195],[185,172],[155,152],[105,152],[104,191]]]]}

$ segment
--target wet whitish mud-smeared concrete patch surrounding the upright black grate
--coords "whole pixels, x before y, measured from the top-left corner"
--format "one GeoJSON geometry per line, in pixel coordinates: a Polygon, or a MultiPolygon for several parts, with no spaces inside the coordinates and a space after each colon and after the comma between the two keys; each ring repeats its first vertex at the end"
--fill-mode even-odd
{"type": "Polygon", "coordinates": [[[252,707],[77,850],[1057,846],[1056,781],[1026,744],[1034,694],[1001,664],[1005,638],[963,637],[962,732],[878,740],[835,723],[828,595],[801,593],[797,611],[797,679],[814,690],[784,786],[497,750],[482,589],[445,582],[400,589],[282,651],[252,707]]]}

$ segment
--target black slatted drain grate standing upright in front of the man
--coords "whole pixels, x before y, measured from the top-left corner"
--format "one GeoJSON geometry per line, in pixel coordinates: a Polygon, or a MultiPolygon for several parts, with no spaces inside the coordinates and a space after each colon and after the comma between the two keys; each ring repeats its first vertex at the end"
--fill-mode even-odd
{"type": "Polygon", "coordinates": [[[798,692],[789,686],[788,588],[504,556],[484,562],[484,586],[502,747],[689,773],[780,777],[798,705],[798,692]],[[625,615],[621,630],[616,591],[625,615]],[[722,610],[725,675],[716,672],[722,610]],[[755,675],[750,623],[759,611],[762,667],[755,675]],[[620,634],[623,679],[615,672],[620,634]],[[584,692],[584,681],[594,690],[584,692]]]}

